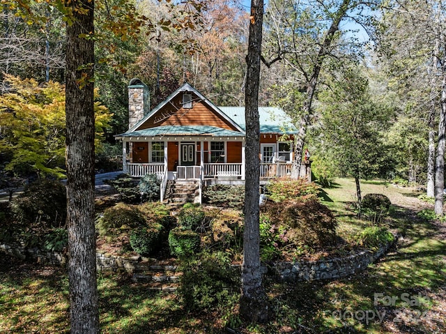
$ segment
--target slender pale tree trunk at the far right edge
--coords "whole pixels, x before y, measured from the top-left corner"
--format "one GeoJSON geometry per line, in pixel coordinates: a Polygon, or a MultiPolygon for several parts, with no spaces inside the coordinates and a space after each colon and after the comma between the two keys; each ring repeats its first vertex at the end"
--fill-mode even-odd
{"type": "MultiPolygon", "coordinates": [[[[444,66],[444,65],[443,65],[444,66]]],[[[443,191],[445,189],[445,130],[446,130],[446,68],[443,67],[440,121],[438,122],[437,159],[435,167],[435,205],[437,215],[443,215],[443,191]]]]}

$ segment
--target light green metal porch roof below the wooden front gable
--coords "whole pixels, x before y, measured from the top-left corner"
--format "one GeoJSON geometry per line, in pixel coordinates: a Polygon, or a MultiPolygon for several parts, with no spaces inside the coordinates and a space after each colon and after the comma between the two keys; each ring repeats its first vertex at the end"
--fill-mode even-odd
{"type": "Polygon", "coordinates": [[[116,137],[158,137],[158,136],[201,136],[210,137],[243,137],[244,132],[225,130],[215,126],[158,126],[132,132],[125,132],[116,137]]]}

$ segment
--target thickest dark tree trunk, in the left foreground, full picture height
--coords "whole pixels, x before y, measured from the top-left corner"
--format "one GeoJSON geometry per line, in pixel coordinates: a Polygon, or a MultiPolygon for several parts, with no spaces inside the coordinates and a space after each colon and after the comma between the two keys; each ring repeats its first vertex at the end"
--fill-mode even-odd
{"type": "Polygon", "coordinates": [[[66,159],[71,333],[99,333],[94,225],[93,0],[67,1],[66,159]],[[75,8],[82,10],[75,10],[75,8]]]}

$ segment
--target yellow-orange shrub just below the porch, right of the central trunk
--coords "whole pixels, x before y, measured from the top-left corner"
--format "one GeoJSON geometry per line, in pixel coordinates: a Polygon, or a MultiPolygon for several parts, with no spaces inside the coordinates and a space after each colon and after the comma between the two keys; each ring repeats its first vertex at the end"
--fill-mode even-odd
{"type": "Polygon", "coordinates": [[[266,185],[266,194],[274,202],[282,202],[286,199],[301,199],[302,201],[316,199],[318,193],[318,185],[302,179],[272,181],[266,185]]]}

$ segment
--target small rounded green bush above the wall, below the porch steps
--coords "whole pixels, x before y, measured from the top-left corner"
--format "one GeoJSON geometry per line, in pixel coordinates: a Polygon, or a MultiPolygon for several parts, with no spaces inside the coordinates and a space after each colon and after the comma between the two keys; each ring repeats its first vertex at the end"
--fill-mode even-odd
{"type": "Polygon", "coordinates": [[[200,250],[200,235],[190,229],[171,229],[168,241],[171,255],[180,259],[190,257],[200,250]]]}

